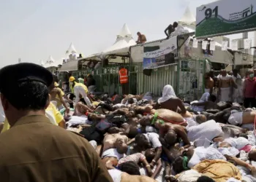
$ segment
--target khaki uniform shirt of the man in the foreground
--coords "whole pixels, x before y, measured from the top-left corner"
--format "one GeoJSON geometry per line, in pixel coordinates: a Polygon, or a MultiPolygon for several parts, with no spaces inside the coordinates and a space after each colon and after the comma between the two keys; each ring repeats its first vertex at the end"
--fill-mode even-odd
{"type": "Polygon", "coordinates": [[[113,181],[88,141],[46,116],[22,117],[0,134],[0,146],[0,181],[113,181]]]}

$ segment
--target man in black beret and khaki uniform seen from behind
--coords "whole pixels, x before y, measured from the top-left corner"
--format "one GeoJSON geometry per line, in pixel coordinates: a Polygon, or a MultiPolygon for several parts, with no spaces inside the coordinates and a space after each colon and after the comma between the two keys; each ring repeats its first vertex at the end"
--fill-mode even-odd
{"type": "Polygon", "coordinates": [[[11,126],[0,135],[1,181],[112,181],[88,141],[45,116],[52,82],[50,71],[33,63],[1,68],[1,103],[11,126]]]}

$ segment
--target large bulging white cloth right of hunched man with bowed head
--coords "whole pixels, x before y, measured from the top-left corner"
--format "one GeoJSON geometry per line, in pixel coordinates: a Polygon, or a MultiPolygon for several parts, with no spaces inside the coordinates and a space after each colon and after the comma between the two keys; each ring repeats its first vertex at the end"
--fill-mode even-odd
{"type": "Polygon", "coordinates": [[[209,120],[194,127],[189,127],[187,137],[196,146],[210,146],[211,141],[222,135],[222,127],[214,120],[209,120]]]}

